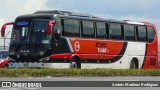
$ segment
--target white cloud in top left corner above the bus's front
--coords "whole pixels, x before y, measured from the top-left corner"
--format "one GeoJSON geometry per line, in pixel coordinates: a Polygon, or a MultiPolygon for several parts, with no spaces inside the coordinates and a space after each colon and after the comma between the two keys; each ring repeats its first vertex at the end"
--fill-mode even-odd
{"type": "Polygon", "coordinates": [[[31,14],[37,10],[47,9],[47,0],[0,0],[0,18],[5,21],[14,21],[22,14],[31,14]]]}

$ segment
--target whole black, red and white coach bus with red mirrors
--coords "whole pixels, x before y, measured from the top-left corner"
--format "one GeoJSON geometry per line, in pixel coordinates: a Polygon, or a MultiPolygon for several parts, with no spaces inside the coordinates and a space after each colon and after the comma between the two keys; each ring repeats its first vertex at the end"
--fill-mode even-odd
{"type": "Polygon", "coordinates": [[[158,33],[149,22],[50,10],[4,24],[2,37],[8,25],[13,25],[11,68],[158,68],[158,33]]]}

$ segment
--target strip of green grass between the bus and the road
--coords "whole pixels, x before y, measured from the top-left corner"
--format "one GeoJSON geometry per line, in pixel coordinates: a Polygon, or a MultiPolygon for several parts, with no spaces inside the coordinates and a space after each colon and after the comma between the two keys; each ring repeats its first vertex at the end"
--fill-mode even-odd
{"type": "Polygon", "coordinates": [[[160,76],[160,69],[0,69],[0,77],[160,76]]]}

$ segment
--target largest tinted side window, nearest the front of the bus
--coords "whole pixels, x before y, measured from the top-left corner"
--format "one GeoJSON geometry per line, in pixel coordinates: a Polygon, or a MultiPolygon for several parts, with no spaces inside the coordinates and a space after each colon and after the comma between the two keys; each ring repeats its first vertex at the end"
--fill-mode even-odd
{"type": "Polygon", "coordinates": [[[69,37],[79,37],[80,36],[78,20],[64,19],[64,21],[62,20],[62,25],[64,25],[63,36],[69,36],[69,37]]]}

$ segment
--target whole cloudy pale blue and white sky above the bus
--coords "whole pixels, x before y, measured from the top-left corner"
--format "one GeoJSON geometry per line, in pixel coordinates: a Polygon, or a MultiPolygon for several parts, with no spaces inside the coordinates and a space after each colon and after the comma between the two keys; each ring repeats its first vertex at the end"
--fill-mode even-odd
{"type": "Polygon", "coordinates": [[[22,14],[60,9],[106,19],[147,21],[160,29],[160,0],[0,0],[0,26],[22,14]]]}

